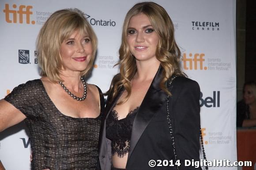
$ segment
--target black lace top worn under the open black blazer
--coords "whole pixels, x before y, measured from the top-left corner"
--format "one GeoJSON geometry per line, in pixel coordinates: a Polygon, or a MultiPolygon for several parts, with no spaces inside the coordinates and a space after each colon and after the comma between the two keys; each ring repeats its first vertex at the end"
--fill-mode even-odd
{"type": "Polygon", "coordinates": [[[111,110],[106,119],[106,137],[111,140],[112,155],[123,157],[129,152],[132,136],[132,125],[139,106],[130,111],[126,118],[118,120],[117,111],[111,110]]]}

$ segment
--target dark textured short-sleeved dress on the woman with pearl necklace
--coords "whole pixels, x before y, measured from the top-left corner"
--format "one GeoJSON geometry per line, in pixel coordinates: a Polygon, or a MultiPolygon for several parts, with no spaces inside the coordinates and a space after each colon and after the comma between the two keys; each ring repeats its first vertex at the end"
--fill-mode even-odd
{"type": "MultiPolygon", "coordinates": [[[[99,89],[100,94],[101,91],[99,89]]],[[[33,160],[32,170],[95,170],[101,114],[97,118],[72,118],[60,113],[41,80],[15,87],[5,100],[26,115],[33,160]]]]}

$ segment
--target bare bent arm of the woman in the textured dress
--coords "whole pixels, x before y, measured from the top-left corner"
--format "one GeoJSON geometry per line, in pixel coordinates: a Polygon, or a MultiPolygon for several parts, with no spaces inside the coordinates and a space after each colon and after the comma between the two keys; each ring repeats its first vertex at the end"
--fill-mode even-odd
{"type": "Polygon", "coordinates": [[[0,100],[0,132],[23,121],[26,116],[6,100],[0,100]]]}

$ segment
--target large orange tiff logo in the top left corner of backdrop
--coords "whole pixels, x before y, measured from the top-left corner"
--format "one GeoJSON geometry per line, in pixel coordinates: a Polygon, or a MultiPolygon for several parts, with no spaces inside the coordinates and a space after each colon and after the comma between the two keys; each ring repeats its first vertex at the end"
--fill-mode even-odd
{"type": "MultiPolygon", "coordinates": [[[[13,4],[12,7],[14,9],[16,9],[17,5],[13,4]]],[[[26,15],[26,24],[30,24],[30,15],[33,14],[32,11],[30,11],[30,9],[32,9],[33,7],[28,5],[20,5],[19,6],[19,10],[11,10],[9,8],[9,4],[5,4],[5,9],[4,9],[4,13],[5,13],[5,21],[8,23],[17,23],[17,14],[19,15],[19,23],[22,24],[23,23],[23,14],[26,15]],[[12,14],[12,15],[11,15],[12,14]]],[[[35,21],[31,21],[31,24],[35,24],[35,21]]]]}

